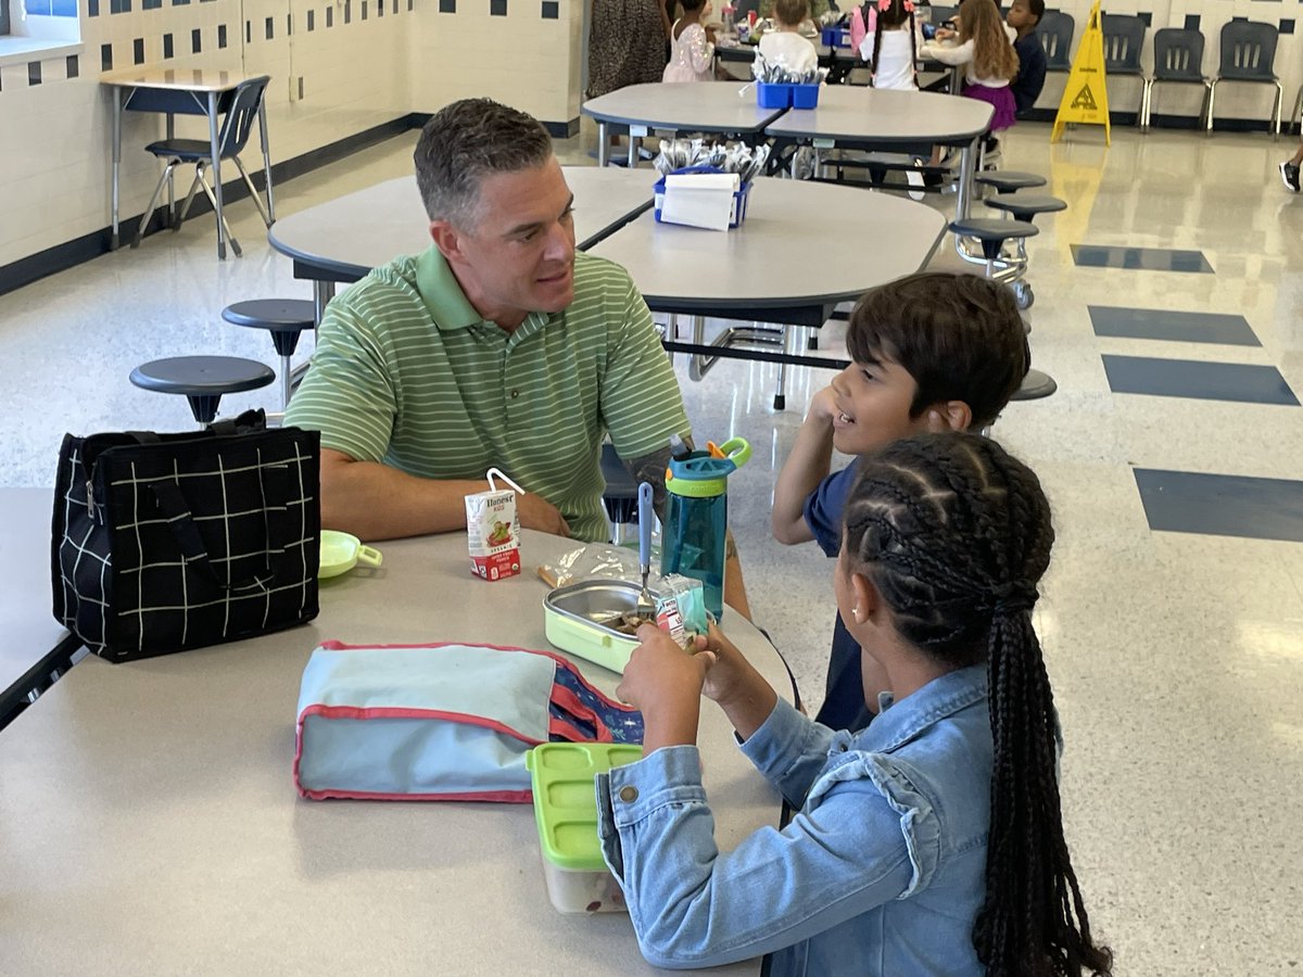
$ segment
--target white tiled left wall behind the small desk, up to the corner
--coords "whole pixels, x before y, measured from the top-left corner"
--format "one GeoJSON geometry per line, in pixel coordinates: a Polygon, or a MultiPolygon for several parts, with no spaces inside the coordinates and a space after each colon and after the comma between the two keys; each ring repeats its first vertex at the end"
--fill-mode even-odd
{"type": "MultiPolygon", "coordinates": [[[[276,163],[412,112],[417,1],[437,3],[78,0],[79,55],[0,65],[0,268],[108,225],[112,102],[99,83],[102,70],[184,64],[270,74],[267,125],[276,163]]],[[[201,117],[179,117],[176,130],[207,138],[201,117]]],[[[149,202],[160,164],[145,146],[163,135],[162,116],[125,113],[124,221],[149,202]]],[[[257,134],[244,159],[250,169],[261,164],[257,134]]],[[[188,180],[182,175],[179,193],[188,180]]],[[[126,229],[134,233],[134,223],[126,229]]]]}

